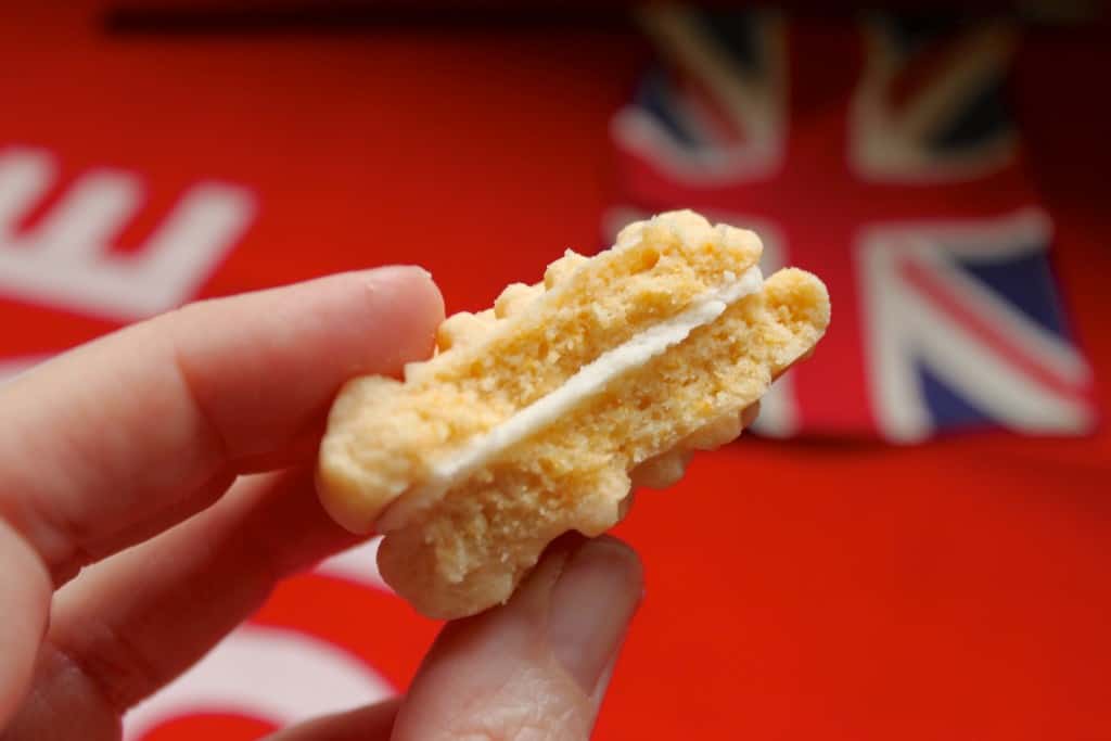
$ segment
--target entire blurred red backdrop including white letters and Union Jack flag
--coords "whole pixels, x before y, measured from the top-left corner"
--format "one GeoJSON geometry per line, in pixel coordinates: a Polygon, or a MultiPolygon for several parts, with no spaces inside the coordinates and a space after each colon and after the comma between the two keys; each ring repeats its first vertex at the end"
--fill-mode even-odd
{"type": "MultiPolygon", "coordinates": [[[[1111,738],[1111,26],[879,6],[6,2],[0,377],[380,263],[480,309],[695,208],[820,274],[833,323],[619,528],[648,594],[598,738],[1111,738]]],[[[403,690],[438,625],[373,548],[130,738],[403,690]]]]}

